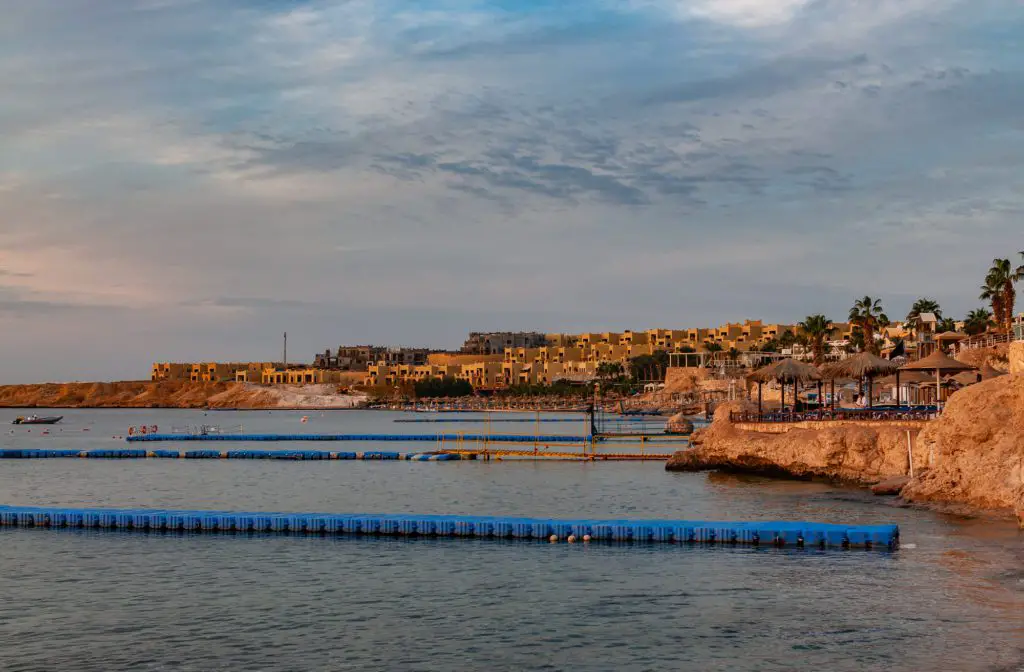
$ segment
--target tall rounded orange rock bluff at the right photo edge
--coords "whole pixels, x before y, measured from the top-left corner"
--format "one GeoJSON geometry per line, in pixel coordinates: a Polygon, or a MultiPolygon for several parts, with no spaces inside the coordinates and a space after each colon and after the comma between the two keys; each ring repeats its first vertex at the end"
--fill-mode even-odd
{"type": "Polygon", "coordinates": [[[957,391],[942,417],[922,431],[919,444],[933,454],[934,465],[907,486],[905,498],[1012,508],[1022,515],[1024,373],[957,391]]]}

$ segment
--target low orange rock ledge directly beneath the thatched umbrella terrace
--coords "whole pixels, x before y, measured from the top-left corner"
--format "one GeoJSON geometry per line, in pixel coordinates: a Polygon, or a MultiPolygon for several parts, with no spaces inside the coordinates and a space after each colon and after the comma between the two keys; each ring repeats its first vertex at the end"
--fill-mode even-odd
{"type": "MultiPolygon", "coordinates": [[[[746,431],[729,422],[725,405],[711,426],[694,432],[692,448],[669,460],[669,470],[723,469],[797,478],[826,477],[861,484],[907,473],[907,432],[899,427],[837,424],[824,429],[792,429],[785,433],[746,431]]],[[[927,454],[915,452],[914,467],[927,465],[927,454]]]]}

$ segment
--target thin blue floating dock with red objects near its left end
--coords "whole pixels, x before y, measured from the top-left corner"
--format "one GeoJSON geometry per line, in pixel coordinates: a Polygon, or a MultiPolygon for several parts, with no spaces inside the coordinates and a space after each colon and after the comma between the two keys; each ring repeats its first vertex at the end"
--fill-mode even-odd
{"type": "Polygon", "coordinates": [[[494,442],[582,444],[591,436],[566,434],[134,434],[130,444],[152,442],[494,442]]]}

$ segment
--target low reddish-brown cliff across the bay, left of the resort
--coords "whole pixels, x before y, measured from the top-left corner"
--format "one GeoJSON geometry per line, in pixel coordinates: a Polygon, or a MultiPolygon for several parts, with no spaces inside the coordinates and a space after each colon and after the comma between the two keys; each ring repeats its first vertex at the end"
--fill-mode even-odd
{"type": "Polygon", "coordinates": [[[122,381],[0,386],[0,407],[6,408],[322,409],[351,408],[361,401],[328,385],[122,381]]]}

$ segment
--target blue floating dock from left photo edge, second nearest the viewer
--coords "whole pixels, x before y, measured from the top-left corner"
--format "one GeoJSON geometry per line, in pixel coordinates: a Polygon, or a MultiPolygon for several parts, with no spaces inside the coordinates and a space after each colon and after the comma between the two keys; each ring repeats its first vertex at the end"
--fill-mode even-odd
{"type": "Polygon", "coordinates": [[[452,462],[472,460],[475,455],[452,453],[398,453],[394,451],[217,451],[217,450],[153,450],[143,449],[94,449],[74,450],[17,450],[0,449],[0,459],[37,460],[46,458],[100,458],[120,460],[141,460],[145,458],[188,459],[188,460],[407,460],[411,462],[452,462]]]}

